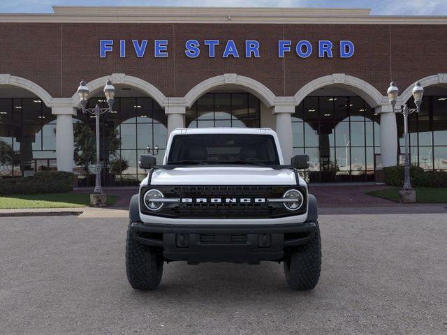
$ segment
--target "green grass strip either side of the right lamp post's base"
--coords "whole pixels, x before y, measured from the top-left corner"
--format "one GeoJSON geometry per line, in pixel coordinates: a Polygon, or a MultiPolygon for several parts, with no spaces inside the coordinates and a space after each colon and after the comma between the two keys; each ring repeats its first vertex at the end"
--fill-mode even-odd
{"type": "MultiPolygon", "coordinates": [[[[445,187],[415,187],[416,202],[421,204],[435,204],[447,202],[447,188],[445,187]]],[[[391,201],[399,201],[399,187],[390,187],[384,190],[372,191],[367,194],[377,198],[383,198],[391,201]]]]}

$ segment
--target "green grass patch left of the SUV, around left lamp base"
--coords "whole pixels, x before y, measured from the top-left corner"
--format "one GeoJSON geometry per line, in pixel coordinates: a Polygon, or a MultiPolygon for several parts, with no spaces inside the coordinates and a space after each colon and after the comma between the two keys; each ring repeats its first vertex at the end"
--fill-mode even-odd
{"type": "MultiPolygon", "coordinates": [[[[118,198],[108,195],[107,203],[114,204],[118,198]]],[[[88,207],[89,204],[88,193],[0,195],[0,209],[88,207]]]]}

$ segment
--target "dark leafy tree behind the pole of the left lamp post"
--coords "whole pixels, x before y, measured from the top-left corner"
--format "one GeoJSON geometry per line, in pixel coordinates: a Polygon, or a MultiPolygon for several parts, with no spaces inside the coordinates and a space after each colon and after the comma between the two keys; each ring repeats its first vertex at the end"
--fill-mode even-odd
{"type": "MultiPolygon", "coordinates": [[[[90,174],[89,165],[96,163],[96,135],[89,124],[78,123],[73,128],[75,137],[75,162],[82,166],[86,175],[90,174]]],[[[116,156],[121,138],[118,131],[113,129],[105,133],[105,166],[108,165],[108,158],[116,156]]]]}

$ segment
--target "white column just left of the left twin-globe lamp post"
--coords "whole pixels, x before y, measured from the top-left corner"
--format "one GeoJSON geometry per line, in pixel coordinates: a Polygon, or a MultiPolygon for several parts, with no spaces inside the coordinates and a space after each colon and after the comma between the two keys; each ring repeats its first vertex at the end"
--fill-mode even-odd
{"type": "Polygon", "coordinates": [[[56,119],[56,157],[57,170],[73,172],[73,115],[76,109],[73,107],[52,107],[52,114],[56,119]]]}

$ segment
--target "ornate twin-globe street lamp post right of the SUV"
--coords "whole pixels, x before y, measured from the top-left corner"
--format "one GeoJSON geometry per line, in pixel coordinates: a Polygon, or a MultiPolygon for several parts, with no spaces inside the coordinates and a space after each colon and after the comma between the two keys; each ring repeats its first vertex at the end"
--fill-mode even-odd
{"type": "MultiPolygon", "coordinates": [[[[399,89],[395,82],[391,82],[387,91],[390,105],[393,107],[393,112],[401,113],[404,116],[404,137],[405,137],[405,165],[404,165],[404,186],[402,191],[413,191],[410,181],[410,159],[409,159],[409,133],[408,133],[408,116],[414,112],[420,111],[420,104],[422,103],[422,97],[424,89],[420,86],[420,82],[416,82],[413,87],[413,98],[416,108],[409,108],[406,104],[402,107],[396,107],[397,96],[399,95],[399,89]]],[[[416,196],[416,195],[415,195],[416,196]]]]}

